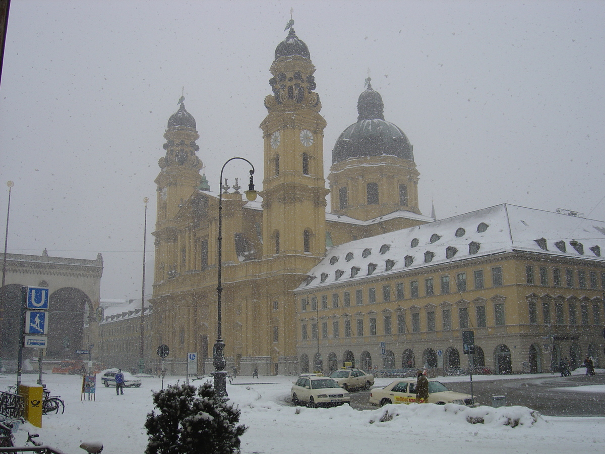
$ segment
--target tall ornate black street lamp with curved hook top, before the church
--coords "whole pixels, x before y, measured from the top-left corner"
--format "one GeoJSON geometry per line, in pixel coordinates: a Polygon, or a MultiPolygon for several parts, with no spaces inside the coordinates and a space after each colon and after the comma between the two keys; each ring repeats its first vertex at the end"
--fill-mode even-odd
{"type": "Polygon", "coordinates": [[[217,286],[217,341],[214,344],[214,355],[213,364],[214,372],[214,389],[220,396],[227,395],[227,372],[225,370],[226,361],[224,357],[225,343],[223,341],[223,320],[222,320],[222,295],[223,295],[223,281],[222,281],[222,260],[223,260],[223,170],[227,163],[235,159],[241,159],[250,164],[252,169],[250,170],[250,184],[248,190],[244,191],[246,199],[253,202],[257,198],[257,191],[254,189],[254,166],[252,163],[243,157],[232,157],[228,159],[221,168],[220,182],[218,183],[218,286],[217,286]]]}

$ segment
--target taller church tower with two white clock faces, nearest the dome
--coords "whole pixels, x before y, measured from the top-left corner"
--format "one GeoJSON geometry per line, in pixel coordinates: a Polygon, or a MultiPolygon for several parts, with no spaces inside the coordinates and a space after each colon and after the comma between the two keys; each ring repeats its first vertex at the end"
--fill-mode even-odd
{"type": "Polygon", "coordinates": [[[283,264],[305,272],[325,254],[326,123],[319,114],[309,48],[292,24],[287,38],[275,49],[269,81],[273,94],[265,99],[268,114],[260,125],[264,138],[263,257],[314,257],[292,258],[295,262],[283,264]]]}

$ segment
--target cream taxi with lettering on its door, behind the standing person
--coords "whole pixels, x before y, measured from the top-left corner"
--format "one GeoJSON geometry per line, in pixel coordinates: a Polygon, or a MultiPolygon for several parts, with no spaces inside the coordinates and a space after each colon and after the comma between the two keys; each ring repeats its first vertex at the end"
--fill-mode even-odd
{"type": "MultiPolygon", "coordinates": [[[[400,378],[384,388],[374,388],[370,392],[370,404],[383,406],[386,404],[411,404],[416,402],[416,380],[413,378],[400,378]]],[[[460,404],[473,406],[473,396],[460,392],[450,391],[440,381],[428,381],[429,404],[460,404]]]]}

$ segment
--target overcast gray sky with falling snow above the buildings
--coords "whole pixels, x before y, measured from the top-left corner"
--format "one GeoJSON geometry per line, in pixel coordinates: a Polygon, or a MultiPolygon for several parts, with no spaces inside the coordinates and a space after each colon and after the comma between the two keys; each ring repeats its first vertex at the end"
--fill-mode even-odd
{"type": "Polygon", "coordinates": [[[605,2],[13,0],[8,252],[102,252],[102,297],[139,297],[143,197],[152,271],[157,160],[181,90],[211,188],[232,156],[261,183],[258,125],[290,7],[317,68],[326,176],[369,68],[385,119],[414,145],[424,214],[431,200],[440,219],[507,202],[605,220],[605,2]]]}

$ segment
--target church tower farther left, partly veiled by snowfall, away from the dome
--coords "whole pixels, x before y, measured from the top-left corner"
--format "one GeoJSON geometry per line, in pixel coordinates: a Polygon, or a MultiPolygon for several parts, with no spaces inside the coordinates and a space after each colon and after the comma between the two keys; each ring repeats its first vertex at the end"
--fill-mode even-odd
{"type": "Polygon", "coordinates": [[[157,184],[157,220],[155,223],[155,281],[163,281],[177,272],[179,247],[176,228],[177,213],[200,184],[201,160],[195,154],[200,136],[195,130],[194,117],[185,110],[185,97],[178,100],[178,111],[168,119],[164,134],[166,155],[159,160],[162,168],[157,184]]]}

